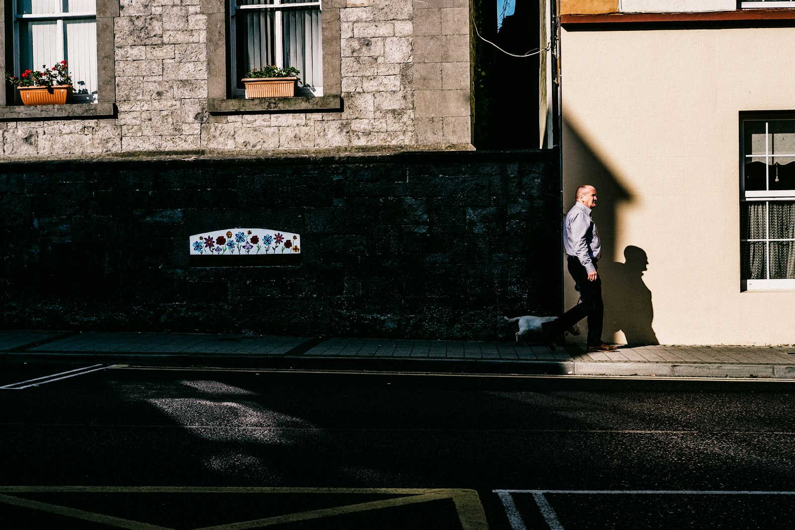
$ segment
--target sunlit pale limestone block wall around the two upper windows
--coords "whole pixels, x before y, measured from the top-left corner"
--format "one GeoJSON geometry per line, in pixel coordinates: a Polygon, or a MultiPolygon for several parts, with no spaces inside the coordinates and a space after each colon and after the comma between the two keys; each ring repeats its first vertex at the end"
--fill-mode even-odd
{"type": "Polygon", "coordinates": [[[53,119],[40,109],[30,119],[33,110],[16,118],[7,103],[0,155],[472,149],[467,0],[324,2],[324,95],[341,103],[311,110],[213,111],[213,91],[226,86],[223,64],[212,63],[224,60],[224,9],[219,0],[99,0],[99,54],[112,50],[103,72],[114,71],[99,100],[112,110],[53,119]]]}

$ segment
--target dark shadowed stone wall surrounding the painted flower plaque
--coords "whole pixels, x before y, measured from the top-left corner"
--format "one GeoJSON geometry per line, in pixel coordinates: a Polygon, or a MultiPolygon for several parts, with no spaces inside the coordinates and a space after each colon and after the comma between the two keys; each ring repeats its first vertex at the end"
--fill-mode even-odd
{"type": "Polygon", "coordinates": [[[0,208],[4,327],[494,339],[560,310],[553,151],[5,163],[0,208]],[[301,254],[189,257],[238,226],[301,254]]]}

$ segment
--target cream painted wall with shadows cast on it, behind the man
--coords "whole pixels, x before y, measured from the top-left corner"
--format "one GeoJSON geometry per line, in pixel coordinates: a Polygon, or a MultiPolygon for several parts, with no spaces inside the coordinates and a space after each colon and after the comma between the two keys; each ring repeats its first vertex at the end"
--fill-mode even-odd
{"type": "Polygon", "coordinates": [[[795,343],[795,292],[740,291],[738,136],[742,110],[795,110],[795,29],[564,30],[561,42],[564,210],[595,185],[603,339],[795,343]]]}

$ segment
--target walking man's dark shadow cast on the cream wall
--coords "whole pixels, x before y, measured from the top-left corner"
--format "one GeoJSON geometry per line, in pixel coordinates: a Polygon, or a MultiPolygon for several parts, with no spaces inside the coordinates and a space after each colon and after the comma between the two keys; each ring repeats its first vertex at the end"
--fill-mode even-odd
{"type": "Polygon", "coordinates": [[[627,344],[659,344],[652,321],[651,291],[643,281],[648,269],[646,251],[637,246],[624,249],[624,262],[600,263],[604,275],[604,334],[627,344]],[[622,340],[621,334],[624,335],[622,340]]]}

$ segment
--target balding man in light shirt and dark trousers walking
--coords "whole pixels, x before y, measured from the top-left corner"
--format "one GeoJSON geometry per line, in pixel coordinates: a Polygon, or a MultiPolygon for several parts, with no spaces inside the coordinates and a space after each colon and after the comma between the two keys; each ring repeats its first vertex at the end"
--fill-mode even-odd
{"type": "Polygon", "coordinates": [[[566,249],[568,273],[580,292],[581,304],[576,304],[560,318],[541,324],[544,342],[550,350],[563,331],[588,317],[588,352],[615,351],[615,346],[607,346],[602,341],[604,304],[602,302],[602,279],[599,278],[596,262],[602,254],[599,232],[591,219],[591,210],[596,206],[596,188],[580,186],[576,192],[576,203],[568,211],[563,223],[563,244],[566,249]]]}

